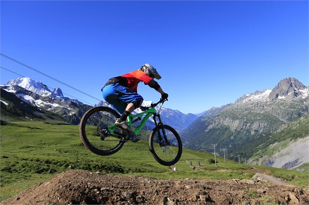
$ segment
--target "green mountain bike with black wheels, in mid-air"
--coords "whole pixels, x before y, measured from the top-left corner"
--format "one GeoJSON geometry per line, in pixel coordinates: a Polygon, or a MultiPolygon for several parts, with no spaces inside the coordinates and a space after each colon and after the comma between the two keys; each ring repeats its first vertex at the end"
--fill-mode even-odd
{"type": "MultiPolygon", "coordinates": [[[[153,116],[155,128],[148,138],[149,150],[157,162],[171,166],[178,162],[182,155],[182,141],[174,128],[162,123],[160,114],[155,110],[155,107],[159,104],[162,106],[164,101],[160,99],[150,107],[141,107],[143,112],[131,113],[127,117],[127,123],[132,128],[133,123],[141,121],[136,129],[133,128],[137,135],[153,116]]],[[[79,134],[91,152],[102,156],[112,155],[118,152],[125,142],[130,141],[129,133],[114,125],[117,118],[120,118],[119,113],[108,107],[94,107],[84,114],[79,124],[79,134]]]]}

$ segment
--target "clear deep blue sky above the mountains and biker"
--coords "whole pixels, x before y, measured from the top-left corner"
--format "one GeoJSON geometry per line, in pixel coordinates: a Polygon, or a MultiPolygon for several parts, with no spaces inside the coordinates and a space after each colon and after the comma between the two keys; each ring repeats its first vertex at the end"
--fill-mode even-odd
{"type": "MultiPolygon", "coordinates": [[[[198,113],[294,77],[308,86],[308,1],[0,1],[1,53],[102,98],[111,77],[157,68],[164,107],[198,113]]],[[[75,92],[1,57],[1,66],[75,92]]],[[[18,76],[0,69],[0,83],[18,76]]],[[[140,83],[145,100],[160,94],[140,83]]]]}

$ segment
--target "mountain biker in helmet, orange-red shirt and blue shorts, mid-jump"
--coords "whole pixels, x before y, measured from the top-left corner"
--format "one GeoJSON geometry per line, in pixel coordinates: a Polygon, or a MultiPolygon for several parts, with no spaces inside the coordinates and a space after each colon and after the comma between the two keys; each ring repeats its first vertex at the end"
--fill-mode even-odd
{"type": "Polygon", "coordinates": [[[133,131],[127,126],[127,116],[142,105],[143,97],[137,94],[137,85],[141,81],[149,87],[158,91],[163,99],[167,99],[168,94],[164,93],[160,85],[154,79],[161,79],[157,70],[146,63],[133,72],[122,76],[111,78],[101,89],[103,98],[113,105],[122,115],[116,120],[115,125],[127,130],[133,131]]]}

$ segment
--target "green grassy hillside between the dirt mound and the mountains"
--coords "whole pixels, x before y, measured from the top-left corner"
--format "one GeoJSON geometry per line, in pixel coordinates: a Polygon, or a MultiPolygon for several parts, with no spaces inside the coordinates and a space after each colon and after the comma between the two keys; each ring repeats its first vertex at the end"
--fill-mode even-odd
{"type": "MultiPolygon", "coordinates": [[[[146,132],[145,132],[146,133],[146,132]]],[[[57,125],[54,122],[2,123],[0,133],[0,200],[70,169],[120,175],[143,175],[157,178],[250,179],[254,173],[246,172],[253,166],[238,164],[204,151],[183,150],[176,164],[177,172],[158,164],[146,141],[127,142],[111,156],[97,156],[87,150],[79,139],[78,126],[57,125]],[[200,167],[198,162],[200,161],[200,167]],[[192,162],[195,168],[190,167],[192,162]]],[[[146,139],[146,136],[143,137],[146,139]]],[[[291,184],[308,186],[306,173],[254,166],[270,170],[291,184]]]]}

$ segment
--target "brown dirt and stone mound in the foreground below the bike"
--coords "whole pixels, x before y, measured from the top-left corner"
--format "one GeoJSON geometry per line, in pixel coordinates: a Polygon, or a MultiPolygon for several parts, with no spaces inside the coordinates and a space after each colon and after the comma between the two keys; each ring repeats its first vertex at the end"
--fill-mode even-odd
{"type": "Polygon", "coordinates": [[[74,170],[0,204],[309,204],[309,192],[251,180],[164,180],[74,170]]]}

